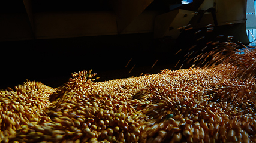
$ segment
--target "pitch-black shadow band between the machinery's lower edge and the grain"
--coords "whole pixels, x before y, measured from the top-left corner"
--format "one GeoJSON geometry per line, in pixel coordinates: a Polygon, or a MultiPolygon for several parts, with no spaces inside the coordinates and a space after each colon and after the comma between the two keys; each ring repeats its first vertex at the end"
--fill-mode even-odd
{"type": "Polygon", "coordinates": [[[92,69],[98,81],[159,73],[172,68],[173,52],[165,52],[153,40],[153,33],[91,36],[81,38],[8,41],[1,44],[0,88],[41,81],[52,87],[61,86],[71,73],[92,69]],[[128,61],[131,62],[125,67],[128,61]],[[155,63],[153,69],[151,67],[155,63]],[[134,69],[129,71],[134,66],[134,69]]]}

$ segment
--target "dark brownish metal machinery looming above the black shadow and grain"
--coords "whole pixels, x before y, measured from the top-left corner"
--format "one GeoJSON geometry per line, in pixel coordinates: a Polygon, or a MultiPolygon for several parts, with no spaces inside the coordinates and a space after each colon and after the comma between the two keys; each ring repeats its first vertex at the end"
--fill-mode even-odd
{"type": "Polygon", "coordinates": [[[4,2],[0,13],[0,41],[131,33],[153,33],[154,38],[177,39],[182,33],[180,27],[189,25],[198,29],[212,24],[232,29],[227,35],[248,43],[244,31],[246,2],[98,0],[85,5],[82,1],[23,0],[16,6],[4,2]]]}

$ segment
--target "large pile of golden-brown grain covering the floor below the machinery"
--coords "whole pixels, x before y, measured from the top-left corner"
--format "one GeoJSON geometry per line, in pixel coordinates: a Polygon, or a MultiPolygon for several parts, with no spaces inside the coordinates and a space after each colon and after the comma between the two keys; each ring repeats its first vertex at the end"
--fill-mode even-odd
{"type": "Polygon", "coordinates": [[[237,67],[162,70],[58,89],[25,82],[1,91],[2,142],[256,142],[254,79],[237,67]]]}

